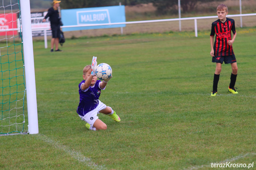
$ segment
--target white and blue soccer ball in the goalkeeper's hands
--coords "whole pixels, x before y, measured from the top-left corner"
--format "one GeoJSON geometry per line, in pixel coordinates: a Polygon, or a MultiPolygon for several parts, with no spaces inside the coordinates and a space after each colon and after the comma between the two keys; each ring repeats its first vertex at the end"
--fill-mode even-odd
{"type": "Polygon", "coordinates": [[[95,70],[95,75],[100,80],[105,80],[112,75],[112,69],[108,64],[101,63],[101,64],[97,65],[96,70],[95,70]]]}

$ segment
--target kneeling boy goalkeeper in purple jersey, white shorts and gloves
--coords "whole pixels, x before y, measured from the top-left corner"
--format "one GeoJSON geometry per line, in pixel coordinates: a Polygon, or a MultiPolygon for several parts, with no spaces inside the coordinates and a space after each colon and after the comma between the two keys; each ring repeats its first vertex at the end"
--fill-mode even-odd
{"type": "Polygon", "coordinates": [[[93,56],[92,65],[85,66],[83,69],[83,79],[79,84],[80,102],[77,107],[77,113],[80,118],[86,122],[85,126],[90,130],[107,129],[107,125],[98,119],[97,114],[103,113],[109,115],[116,122],[120,122],[119,116],[99,100],[101,90],[106,88],[109,77],[101,82],[97,80],[95,69],[97,67],[97,57],[93,56]]]}

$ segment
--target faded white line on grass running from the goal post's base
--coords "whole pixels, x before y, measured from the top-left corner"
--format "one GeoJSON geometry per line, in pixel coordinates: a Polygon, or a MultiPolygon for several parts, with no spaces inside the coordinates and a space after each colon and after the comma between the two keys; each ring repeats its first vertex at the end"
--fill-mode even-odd
{"type": "Polygon", "coordinates": [[[56,149],[63,150],[64,152],[69,154],[74,159],[76,159],[79,162],[82,162],[82,163],[86,164],[87,166],[89,166],[91,169],[106,170],[106,168],[104,166],[97,165],[90,158],[86,158],[83,154],[81,154],[80,152],[77,152],[77,151],[74,151],[74,150],[70,149],[68,146],[62,145],[59,142],[55,142],[54,140],[52,140],[52,139],[50,139],[47,136],[42,135],[42,134],[37,134],[35,136],[38,139],[40,139],[40,140],[42,140],[42,141],[44,141],[46,143],[49,143],[50,145],[52,145],[56,149]]]}

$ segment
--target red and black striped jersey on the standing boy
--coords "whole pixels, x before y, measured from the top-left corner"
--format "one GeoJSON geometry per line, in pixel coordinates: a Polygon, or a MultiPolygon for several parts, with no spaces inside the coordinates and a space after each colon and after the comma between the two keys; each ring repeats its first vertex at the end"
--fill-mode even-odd
{"type": "Polygon", "coordinates": [[[214,56],[228,56],[234,54],[232,45],[228,45],[231,40],[231,30],[236,34],[235,21],[231,18],[226,18],[225,22],[220,19],[212,23],[212,31],[210,36],[215,37],[214,42],[214,56]]]}

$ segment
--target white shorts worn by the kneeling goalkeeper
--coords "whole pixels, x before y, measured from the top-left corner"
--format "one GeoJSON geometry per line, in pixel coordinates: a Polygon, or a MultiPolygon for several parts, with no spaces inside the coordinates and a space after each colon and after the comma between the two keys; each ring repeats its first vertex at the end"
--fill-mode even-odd
{"type": "Polygon", "coordinates": [[[99,117],[97,116],[97,114],[99,114],[99,111],[101,111],[101,110],[103,110],[103,109],[106,109],[106,107],[107,107],[107,106],[106,106],[104,103],[102,103],[100,100],[98,100],[98,101],[99,101],[99,104],[98,104],[98,106],[97,106],[95,109],[89,111],[87,114],[85,114],[85,116],[79,115],[80,118],[81,118],[83,121],[89,123],[91,126],[93,126],[94,122],[99,118],[99,117]]]}

